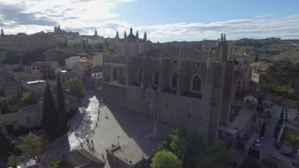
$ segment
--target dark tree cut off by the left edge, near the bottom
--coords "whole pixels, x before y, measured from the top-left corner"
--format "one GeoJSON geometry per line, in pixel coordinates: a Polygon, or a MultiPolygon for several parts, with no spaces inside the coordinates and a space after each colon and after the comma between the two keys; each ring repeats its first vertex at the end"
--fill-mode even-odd
{"type": "Polygon", "coordinates": [[[15,143],[8,137],[3,127],[0,126],[0,156],[8,156],[15,151],[15,143]]]}

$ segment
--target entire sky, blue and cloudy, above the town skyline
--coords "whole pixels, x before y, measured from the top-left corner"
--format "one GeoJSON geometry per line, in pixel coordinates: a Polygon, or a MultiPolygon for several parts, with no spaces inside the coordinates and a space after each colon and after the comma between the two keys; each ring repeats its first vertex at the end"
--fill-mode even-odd
{"type": "Polygon", "coordinates": [[[149,40],[299,39],[299,0],[0,0],[4,34],[54,31],[149,40]]]}

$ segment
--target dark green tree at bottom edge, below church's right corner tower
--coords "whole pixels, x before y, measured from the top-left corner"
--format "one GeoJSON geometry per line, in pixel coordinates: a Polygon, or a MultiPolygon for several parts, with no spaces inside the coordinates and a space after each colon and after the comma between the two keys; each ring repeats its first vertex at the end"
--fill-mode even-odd
{"type": "Polygon", "coordinates": [[[215,140],[208,144],[200,158],[198,168],[230,168],[234,156],[233,150],[227,150],[222,141],[215,140]]]}

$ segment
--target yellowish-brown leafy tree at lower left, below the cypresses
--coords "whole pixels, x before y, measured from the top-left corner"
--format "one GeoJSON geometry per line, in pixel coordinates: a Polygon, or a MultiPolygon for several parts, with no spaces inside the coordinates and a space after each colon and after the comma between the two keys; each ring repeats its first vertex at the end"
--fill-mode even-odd
{"type": "Polygon", "coordinates": [[[47,139],[43,136],[29,135],[21,139],[17,148],[19,148],[25,155],[32,157],[36,163],[40,163],[47,156],[47,143],[47,139]]]}

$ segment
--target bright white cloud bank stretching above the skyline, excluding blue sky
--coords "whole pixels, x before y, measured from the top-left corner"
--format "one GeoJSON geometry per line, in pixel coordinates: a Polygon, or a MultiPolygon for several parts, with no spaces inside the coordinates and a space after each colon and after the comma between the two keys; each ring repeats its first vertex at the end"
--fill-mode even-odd
{"type": "MultiPolygon", "coordinates": [[[[1,0],[0,0],[1,1],[1,0]]],[[[112,12],[119,4],[135,0],[7,0],[0,2],[0,23],[4,32],[35,33],[41,30],[53,31],[55,24],[62,29],[79,31],[80,34],[98,34],[114,37],[119,30],[120,37],[124,29],[129,33],[130,23],[120,20],[120,14],[112,12]]],[[[270,14],[255,16],[251,19],[228,20],[223,22],[173,23],[132,25],[133,32],[139,30],[143,37],[147,31],[151,41],[165,42],[173,40],[195,41],[203,38],[217,39],[221,32],[227,39],[280,37],[299,38],[299,15],[284,18],[266,19],[270,14]],[[264,19],[262,19],[264,18],[264,19]]]]}

